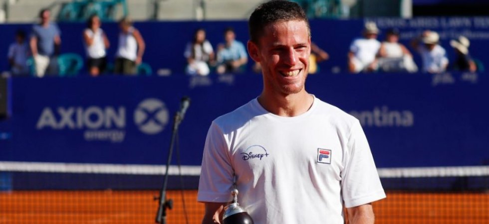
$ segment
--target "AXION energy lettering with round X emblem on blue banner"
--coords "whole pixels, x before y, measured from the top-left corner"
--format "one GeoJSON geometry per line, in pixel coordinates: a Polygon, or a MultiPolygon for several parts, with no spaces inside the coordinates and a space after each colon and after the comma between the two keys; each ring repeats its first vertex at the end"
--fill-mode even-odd
{"type": "MultiPolygon", "coordinates": [[[[86,141],[122,142],[126,137],[124,106],[45,107],[36,123],[37,130],[83,131],[86,141]]],[[[165,104],[154,98],[143,100],[134,110],[134,123],[143,133],[160,133],[168,124],[165,104]]]]}

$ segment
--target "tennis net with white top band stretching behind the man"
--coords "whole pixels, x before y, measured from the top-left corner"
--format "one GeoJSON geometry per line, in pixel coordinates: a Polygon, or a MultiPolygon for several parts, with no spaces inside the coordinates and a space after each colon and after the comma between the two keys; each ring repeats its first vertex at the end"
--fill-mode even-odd
{"type": "MultiPolygon", "coordinates": [[[[0,162],[0,224],[154,223],[165,166],[0,162]]],[[[170,166],[169,224],[198,224],[199,166],[170,166]],[[183,189],[183,190],[182,190],[183,189]]],[[[489,166],[382,168],[377,224],[489,224],[489,166]]]]}

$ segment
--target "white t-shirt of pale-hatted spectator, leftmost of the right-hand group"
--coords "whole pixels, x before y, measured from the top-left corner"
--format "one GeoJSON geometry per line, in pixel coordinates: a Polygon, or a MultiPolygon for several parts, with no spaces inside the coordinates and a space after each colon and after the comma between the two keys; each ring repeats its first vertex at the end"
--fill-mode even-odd
{"type": "Polygon", "coordinates": [[[355,54],[364,66],[368,66],[375,60],[375,55],[380,49],[380,42],[376,39],[355,39],[350,45],[350,51],[355,54]]]}

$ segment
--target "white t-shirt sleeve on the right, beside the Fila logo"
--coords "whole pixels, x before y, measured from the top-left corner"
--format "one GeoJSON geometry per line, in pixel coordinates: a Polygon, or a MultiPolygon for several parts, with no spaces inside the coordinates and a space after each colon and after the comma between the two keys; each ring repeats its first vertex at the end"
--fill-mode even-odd
{"type": "Polygon", "coordinates": [[[341,172],[341,190],[346,208],[368,204],[385,198],[372,152],[360,122],[352,127],[341,172]]]}

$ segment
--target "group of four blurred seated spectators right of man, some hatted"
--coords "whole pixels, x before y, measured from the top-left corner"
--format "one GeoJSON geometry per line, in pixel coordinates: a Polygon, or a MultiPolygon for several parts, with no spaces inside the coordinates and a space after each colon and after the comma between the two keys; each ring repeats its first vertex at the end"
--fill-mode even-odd
{"type": "MultiPolygon", "coordinates": [[[[367,22],[361,38],[355,39],[348,53],[348,69],[359,72],[410,72],[418,71],[411,52],[399,43],[399,30],[390,29],[385,40],[380,42],[377,36],[380,30],[373,22],[367,22]]],[[[475,72],[477,66],[469,53],[470,41],[464,36],[451,40],[450,45],[456,52],[456,58],[450,63],[447,52],[440,45],[437,32],[425,30],[411,41],[412,48],[422,59],[423,73],[442,73],[450,70],[475,72]]]]}

